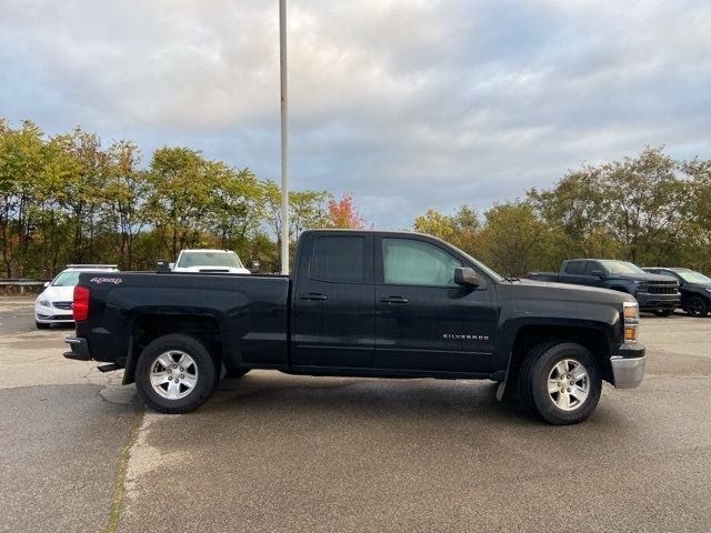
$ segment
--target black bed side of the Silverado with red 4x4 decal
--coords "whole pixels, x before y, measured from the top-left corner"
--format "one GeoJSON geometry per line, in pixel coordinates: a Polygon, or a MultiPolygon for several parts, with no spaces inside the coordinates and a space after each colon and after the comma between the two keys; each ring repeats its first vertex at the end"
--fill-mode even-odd
{"type": "Polygon", "coordinates": [[[93,312],[77,323],[77,334],[91,339],[89,350],[97,360],[126,360],[132,335],[174,331],[180,322],[186,333],[191,328],[214,329],[228,368],[242,362],[282,368],[289,362],[288,276],[82,273],[79,283],[89,288],[93,312]],[[171,314],[176,315],[172,322],[171,314]]]}

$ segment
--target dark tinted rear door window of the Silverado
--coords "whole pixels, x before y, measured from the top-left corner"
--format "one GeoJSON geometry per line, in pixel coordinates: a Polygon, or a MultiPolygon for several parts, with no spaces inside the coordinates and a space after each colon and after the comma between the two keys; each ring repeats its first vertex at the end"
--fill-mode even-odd
{"type": "Polygon", "coordinates": [[[365,281],[365,238],[318,238],[313,245],[311,278],[351,283],[365,281]]]}

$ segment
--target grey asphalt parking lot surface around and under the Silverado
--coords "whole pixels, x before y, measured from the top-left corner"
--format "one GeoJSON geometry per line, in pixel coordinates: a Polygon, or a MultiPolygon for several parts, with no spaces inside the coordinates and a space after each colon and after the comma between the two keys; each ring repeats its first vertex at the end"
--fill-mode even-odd
{"type": "Polygon", "coordinates": [[[711,316],[643,316],[647,379],[553,428],[485,381],[254,371],[184,415],[0,299],[2,531],[711,530],[711,316]]]}

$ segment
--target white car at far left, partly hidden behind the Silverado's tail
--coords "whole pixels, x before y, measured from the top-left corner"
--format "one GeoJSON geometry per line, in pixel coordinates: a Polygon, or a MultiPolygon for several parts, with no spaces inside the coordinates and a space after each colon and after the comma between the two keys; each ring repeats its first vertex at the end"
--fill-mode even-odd
{"type": "Polygon", "coordinates": [[[80,272],[118,272],[116,264],[68,264],[34,301],[34,325],[46,330],[52,324],[73,322],[72,301],[80,272]]]}

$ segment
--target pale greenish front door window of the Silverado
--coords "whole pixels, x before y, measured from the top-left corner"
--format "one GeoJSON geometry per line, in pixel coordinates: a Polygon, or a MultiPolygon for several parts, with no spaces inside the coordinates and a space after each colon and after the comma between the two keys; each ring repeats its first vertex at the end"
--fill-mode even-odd
{"type": "Polygon", "coordinates": [[[412,239],[382,240],[385,283],[454,285],[454,269],[462,263],[433,244],[412,239]]]}

